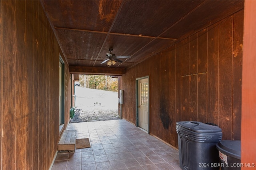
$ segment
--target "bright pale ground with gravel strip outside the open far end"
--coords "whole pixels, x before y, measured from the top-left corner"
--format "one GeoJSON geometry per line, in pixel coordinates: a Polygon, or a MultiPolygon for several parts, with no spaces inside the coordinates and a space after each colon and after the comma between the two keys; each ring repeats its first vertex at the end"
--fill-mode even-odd
{"type": "Polygon", "coordinates": [[[75,116],[71,123],[116,120],[118,92],[95,90],[76,86],[75,116]]]}

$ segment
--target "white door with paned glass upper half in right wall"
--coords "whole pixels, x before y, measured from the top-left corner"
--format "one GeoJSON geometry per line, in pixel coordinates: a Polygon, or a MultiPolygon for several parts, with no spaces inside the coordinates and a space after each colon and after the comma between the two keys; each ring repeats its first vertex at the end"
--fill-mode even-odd
{"type": "Polygon", "coordinates": [[[138,81],[138,123],[148,131],[148,78],[138,81]]]}

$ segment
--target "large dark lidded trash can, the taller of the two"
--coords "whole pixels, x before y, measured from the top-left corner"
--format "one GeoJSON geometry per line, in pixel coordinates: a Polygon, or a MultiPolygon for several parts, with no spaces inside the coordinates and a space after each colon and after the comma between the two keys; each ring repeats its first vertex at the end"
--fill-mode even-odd
{"type": "Polygon", "coordinates": [[[222,139],[222,130],[198,121],[176,123],[180,168],[182,170],[219,170],[216,144],[222,139]]]}

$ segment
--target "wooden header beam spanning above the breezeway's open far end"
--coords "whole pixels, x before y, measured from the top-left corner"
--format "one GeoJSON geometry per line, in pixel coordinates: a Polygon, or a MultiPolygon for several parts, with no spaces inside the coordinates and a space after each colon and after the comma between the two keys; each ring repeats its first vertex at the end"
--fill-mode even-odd
{"type": "Polygon", "coordinates": [[[98,74],[122,76],[125,74],[125,68],[69,66],[69,72],[70,74],[98,74]]]}

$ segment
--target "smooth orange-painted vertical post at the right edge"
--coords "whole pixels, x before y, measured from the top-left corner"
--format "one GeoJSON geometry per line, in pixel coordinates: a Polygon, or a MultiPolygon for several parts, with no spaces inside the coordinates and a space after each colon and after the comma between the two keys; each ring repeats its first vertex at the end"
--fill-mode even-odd
{"type": "Polygon", "coordinates": [[[244,2],[244,57],[242,86],[242,170],[255,169],[256,164],[256,1],[244,2]]]}

